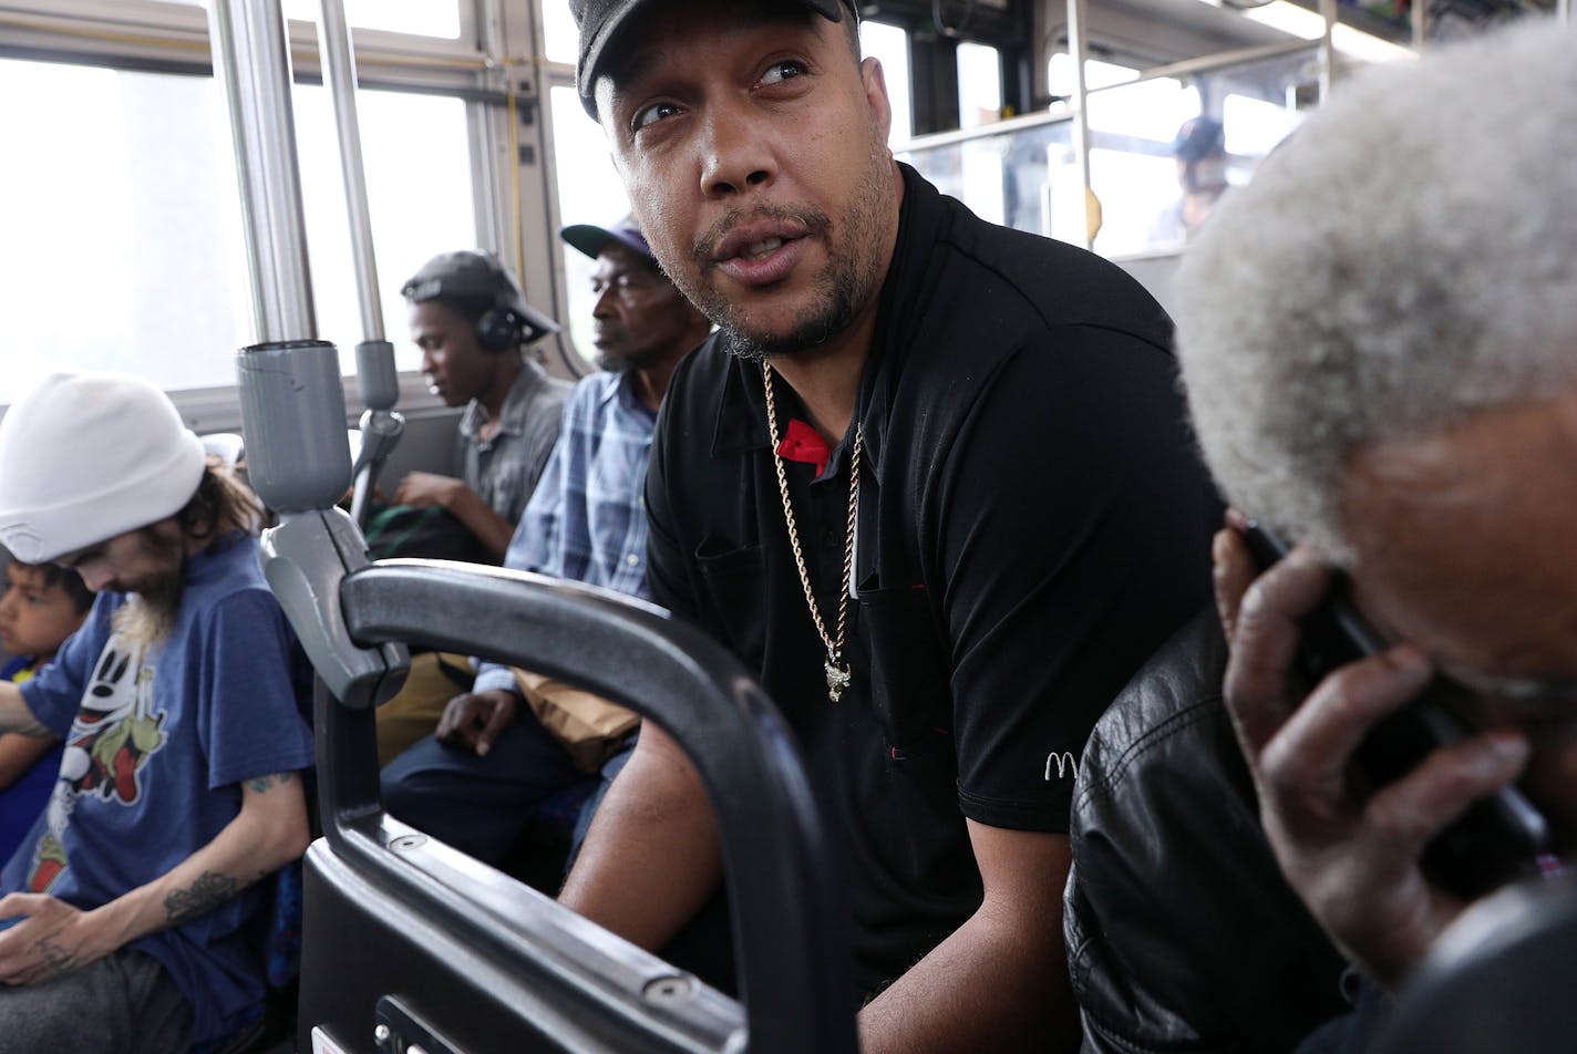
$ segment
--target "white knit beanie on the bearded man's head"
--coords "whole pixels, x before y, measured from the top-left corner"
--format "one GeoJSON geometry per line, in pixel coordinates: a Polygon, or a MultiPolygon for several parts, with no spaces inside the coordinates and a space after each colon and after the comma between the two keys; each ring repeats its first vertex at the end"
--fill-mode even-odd
{"type": "Polygon", "coordinates": [[[0,421],[0,544],[30,564],[175,515],[203,449],[158,388],[54,373],[0,421]]]}

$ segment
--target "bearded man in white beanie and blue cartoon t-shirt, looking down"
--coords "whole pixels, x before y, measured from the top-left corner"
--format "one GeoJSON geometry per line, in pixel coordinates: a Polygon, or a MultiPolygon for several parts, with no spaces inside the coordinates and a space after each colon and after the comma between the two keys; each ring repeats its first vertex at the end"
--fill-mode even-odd
{"type": "Polygon", "coordinates": [[[0,544],[99,594],[52,666],[0,684],[0,729],[66,740],[0,870],[6,1051],[185,1051],[255,1018],[254,882],[306,849],[312,763],[257,512],[144,380],[57,373],[0,422],[0,544]]]}

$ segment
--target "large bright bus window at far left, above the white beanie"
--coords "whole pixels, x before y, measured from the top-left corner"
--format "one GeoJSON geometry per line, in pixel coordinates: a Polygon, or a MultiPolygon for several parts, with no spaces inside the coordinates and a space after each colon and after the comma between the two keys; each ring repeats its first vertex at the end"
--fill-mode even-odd
{"type": "Polygon", "coordinates": [[[213,82],[0,60],[9,403],[58,369],[233,383],[251,328],[235,162],[213,82]],[[178,295],[172,295],[180,290],[178,295]]]}

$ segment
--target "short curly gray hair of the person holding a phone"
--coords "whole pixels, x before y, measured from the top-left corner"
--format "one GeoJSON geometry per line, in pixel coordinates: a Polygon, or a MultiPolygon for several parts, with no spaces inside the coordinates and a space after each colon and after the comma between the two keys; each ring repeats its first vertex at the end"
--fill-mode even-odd
{"type": "Polygon", "coordinates": [[[1178,273],[1227,498],[1350,558],[1340,469],[1577,381],[1577,32],[1372,69],[1228,194],[1178,273]]]}

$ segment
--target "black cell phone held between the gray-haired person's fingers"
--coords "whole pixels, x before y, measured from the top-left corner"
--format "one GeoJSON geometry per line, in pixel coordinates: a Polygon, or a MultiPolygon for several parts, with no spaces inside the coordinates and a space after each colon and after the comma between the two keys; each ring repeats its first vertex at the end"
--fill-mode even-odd
{"type": "MultiPolygon", "coordinates": [[[[1249,553],[1265,570],[1290,551],[1282,539],[1260,523],[1243,533],[1249,553]]],[[[1312,688],[1334,668],[1377,655],[1388,641],[1358,613],[1337,577],[1329,597],[1303,622],[1298,673],[1312,688]]],[[[1435,677],[1411,703],[1378,722],[1355,752],[1356,775],[1383,786],[1410,772],[1440,747],[1465,739],[1470,731],[1446,706],[1452,692],[1465,692],[1435,677]]],[[[1474,900],[1504,882],[1549,874],[1549,824],[1533,802],[1514,786],[1504,786],[1474,802],[1424,848],[1424,873],[1459,896],[1474,900]]]]}

